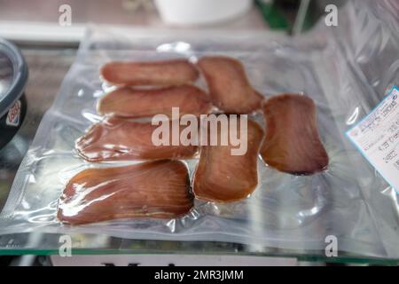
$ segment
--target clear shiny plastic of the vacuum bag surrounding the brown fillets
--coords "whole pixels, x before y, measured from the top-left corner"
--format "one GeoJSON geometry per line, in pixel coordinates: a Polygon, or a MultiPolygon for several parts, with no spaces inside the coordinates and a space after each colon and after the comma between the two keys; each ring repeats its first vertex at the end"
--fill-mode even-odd
{"type": "MultiPolygon", "coordinates": [[[[215,32],[145,32],[144,36],[129,29],[91,27],[20,166],[0,215],[0,234],[106,233],[130,239],[231,241],[309,250],[324,249],[325,237],[334,235],[342,251],[399,257],[397,193],[345,137],[345,131],[398,79],[395,13],[389,24],[374,14],[391,8],[389,1],[350,2],[340,17],[342,25],[350,21],[348,30],[328,29],[322,22],[301,38],[215,32]],[[382,35],[370,32],[372,24],[381,28],[382,35]],[[367,33],[370,37],[354,38],[367,33]],[[57,204],[68,180],[84,169],[116,166],[84,162],[74,150],[75,140],[100,120],[96,103],[109,86],[99,79],[99,67],[116,59],[195,61],[219,54],[241,60],[254,88],[266,97],[303,92],[315,101],[318,131],[330,157],[328,170],[293,176],[258,159],[259,183],[246,200],[224,204],[195,200],[190,214],[168,220],[61,225],[57,204]]],[[[206,88],[203,80],[197,84],[206,88]]],[[[262,122],[259,114],[254,119],[262,122]]],[[[184,162],[192,176],[198,160],[184,162]]]]}

